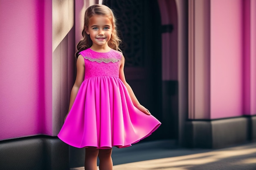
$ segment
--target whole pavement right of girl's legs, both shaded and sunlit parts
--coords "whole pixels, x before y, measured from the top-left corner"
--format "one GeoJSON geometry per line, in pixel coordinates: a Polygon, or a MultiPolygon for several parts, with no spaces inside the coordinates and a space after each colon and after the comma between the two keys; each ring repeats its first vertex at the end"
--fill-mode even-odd
{"type": "Polygon", "coordinates": [[[114,170],[256,170],[256,143],[213,150],[177,148],[174,141],[144,142],[113,148],[112,158],[114,170]]]}

